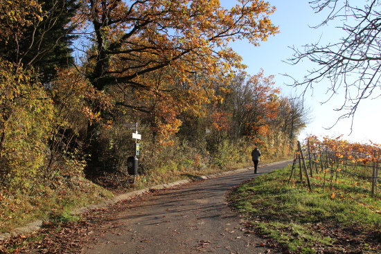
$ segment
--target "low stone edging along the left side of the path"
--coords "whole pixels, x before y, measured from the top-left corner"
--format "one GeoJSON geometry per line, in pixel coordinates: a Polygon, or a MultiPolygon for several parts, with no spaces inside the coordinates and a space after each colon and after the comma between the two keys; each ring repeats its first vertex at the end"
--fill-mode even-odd
{"type": "MultiPolygon", "coordinates": [[[[292,161],[292,160],[287,160],[287,161],[292,161]]],[[[277,162],[274,162],[274,163],[267,163],[267,164],[260,165],[259,167],[265,167],[265,166],[269,166],[269,165],[277,165],[277,164],[281,164],[281,163],[284,163],[284,162],[287,162],[287,161],[277,161],[277,162]]],[[[211,175],[208,175],[208,176],[198,176],[196,178],[196,180],[213,179],[213,178],[218,178],[218,177],[221,177],[221,176],[226,176],[226,175],[229,175],[229,174],[237,174],[237,173],[240,173],[240,172],[247,172],[249,170],[253,170],[253,167],[245,167],[245,168],[241,168],[241,169],[238,169],[238,170],[231,170],[231,171],[227,171],[227,172],[221,172],[221,173],[217,173],[217,174],[211,174],[211,175]]],[[[100,203],[92,204],[92,205],[89,205],[89,206],[86,206],[86,207],[82,207],[82,208],[78,208],[76,210],[73,210],[73,212],[71,212],[71,214],[72,215],[79,215],[82,212],[87,212],[88,210],[92,210],[92,209],[96,209],[96,208],[105,208],[105,207],[110,206],[110,205],[112,205],[114,203],[118,203],[118,201],[122,201],[122,200],[125,200],[125,199],[136,197],[136,196],[139,196],[139,195],[141,195],[141,194],[143,194],[145,192],[150,192],[150,190],[162,190],[162,189],[166,189],[166,188],[172,188],[172,187],[175,187],[175,186],[178,186],[178,185],[183,185],[183,184],[186,184],[186,183],[190,183],[192,181],[193,181],[193,179],[184,179],[184,180],[179,180],[179,181],[175,181],[175,182],[172,182],[172,183],[162,183],[162,184],[159,184],[159,185],[154,185],[154,186],[151,186],[151,187],[148,187],[148,188],[144,188],[144,189],[141,189],[141,190],[135,190],[133,192],[126,192],[126,193],[123,193],[123,194],[119,194],[119,195],[117,195],[115,197],[112,197],[112,199],[105,199],[104,201],[101,201],[100,203]]],[[[37,221],[33,221],[32,223],[28,224],[27,226],[20,227],[20,228],[15,228],[14,230],[12,230],[11,233],[1,233],[0,234],[0,241],[4,240],[4,239],[8,239],[10,237],[17,237],[18,235],[21,235],[23,233],[31,233],[33,231],[39,230],[40,228],[42,228],[42,224],[43,224],[42,220],[37,220],[37,221]]]]}

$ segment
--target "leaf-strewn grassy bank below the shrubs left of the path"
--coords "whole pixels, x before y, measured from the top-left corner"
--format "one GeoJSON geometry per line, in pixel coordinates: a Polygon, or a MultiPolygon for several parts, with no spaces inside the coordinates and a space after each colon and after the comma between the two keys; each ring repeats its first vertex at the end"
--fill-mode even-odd
{"type": "Polygon", "coordinates": [[[14,194],[0,199],[0,233],[8,233],[12,229],[26,226],[35,220],[51,220],[64,222],[75,220],[72,210],[98,203],[112,193],[100,188],[86,179],[72,182],[75,188],[62,186],[60,191],[52,188],[35,188],[26,195],[14,194]],[[34,194],[34,195],[32,195],[34,194]]]}

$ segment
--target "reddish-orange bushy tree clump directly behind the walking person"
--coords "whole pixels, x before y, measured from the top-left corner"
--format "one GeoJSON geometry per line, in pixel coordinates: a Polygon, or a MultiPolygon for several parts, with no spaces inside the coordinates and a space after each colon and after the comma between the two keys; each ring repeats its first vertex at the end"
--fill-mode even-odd
{"type": "Polygon", "coordinates": [[[238,147],[258,145],[268,157],[292,152],[290,144],[308,123],[310,111],[299,99],[280,97],[280,89],[274,86],[273,77],[265,77],[263,71],[236,73],[228,87],[216,92],[222,100],[208,114],[213,123],[208,125],[211,151],[219,151],[226,140],[242,140],[238,147]],[[224,136],[218,139],[221,134],[224,136]]]}

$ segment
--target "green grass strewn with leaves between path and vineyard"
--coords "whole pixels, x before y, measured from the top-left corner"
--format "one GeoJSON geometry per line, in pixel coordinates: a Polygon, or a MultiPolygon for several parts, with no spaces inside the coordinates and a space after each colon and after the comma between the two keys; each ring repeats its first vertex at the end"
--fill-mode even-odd
{"type": "Polygon", "coordinates": [[[292,253],[316,253],[321,248],[336,253],[343,247],[341,239],[351,235],[344,230],[361,232],[355,236],[361,239],[359,246],[344,248],[380,253],[380,239],[375,237],[374,242],[369,236],[381,234],[378,213],[381,201],[379,197],[364,194],[369,188],[366,181],[354,182],[340,176],[342,179],[324,186],[324,179],[315,173],[309,192],[305,183],[294,180],[288,183],[290,173],[291,168],[286,167],[243,183],[229,194],[231,206],[258,233],[274,239],[292,253]],[[333,231],[337,231],[338,237],[333,231]]]}

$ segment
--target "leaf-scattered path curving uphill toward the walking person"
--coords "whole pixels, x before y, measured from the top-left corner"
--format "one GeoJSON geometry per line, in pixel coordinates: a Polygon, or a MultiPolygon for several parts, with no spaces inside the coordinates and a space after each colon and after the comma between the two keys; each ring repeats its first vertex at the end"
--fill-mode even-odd
{"type": "Polygon", "coordinates": [[[82,248],[86,254],[122,253],[276,253],[263,246],[242,226],[224,199],[229,188],[260,174],[285,167],[274,163],[215,179],[197,181],[172,190],[125,202],[121,209],[92,221],[96,242],[82,248]]]}

